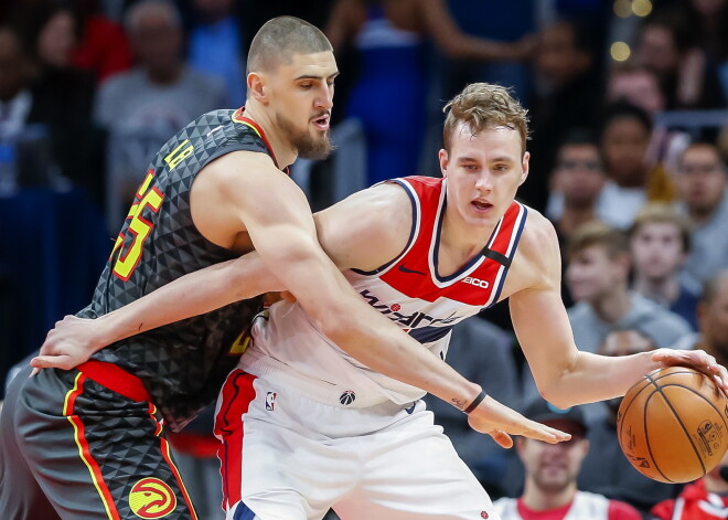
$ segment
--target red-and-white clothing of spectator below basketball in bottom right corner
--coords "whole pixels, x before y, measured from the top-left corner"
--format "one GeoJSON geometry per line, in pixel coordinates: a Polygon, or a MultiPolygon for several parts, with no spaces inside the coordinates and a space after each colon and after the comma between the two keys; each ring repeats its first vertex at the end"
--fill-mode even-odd
{"type": "Polygon", "coordinates": [[[652,508],[660,520],[718,520],[728,518],[728,453],[705,477],[685,487],[674,500],[652,508]]]}

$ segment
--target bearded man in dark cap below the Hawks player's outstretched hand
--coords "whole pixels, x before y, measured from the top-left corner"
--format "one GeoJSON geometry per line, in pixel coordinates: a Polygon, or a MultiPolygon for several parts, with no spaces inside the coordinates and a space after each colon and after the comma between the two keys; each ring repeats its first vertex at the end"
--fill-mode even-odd
{"type": "Polygon", "coordinates": [[[548,445],[516,438],[525,484],[520,498],[501,498],[493,503],[502,520],[641,520],[631,506],[577,487],[577,476],[590,446],[586,421],[578,407],[559,410],[538,399],[524,415],[571,434],[571,439],[548,445]]]}

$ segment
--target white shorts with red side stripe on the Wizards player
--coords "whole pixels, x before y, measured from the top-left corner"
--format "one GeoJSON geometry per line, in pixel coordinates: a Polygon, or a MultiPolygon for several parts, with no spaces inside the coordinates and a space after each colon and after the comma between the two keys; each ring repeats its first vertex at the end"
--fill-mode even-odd
{"type": "Polygon", "coordinates": [[[235,370],[215,421],[226,519],[497,520],[432,421],[422,401],[333,406],[235,370]]]}

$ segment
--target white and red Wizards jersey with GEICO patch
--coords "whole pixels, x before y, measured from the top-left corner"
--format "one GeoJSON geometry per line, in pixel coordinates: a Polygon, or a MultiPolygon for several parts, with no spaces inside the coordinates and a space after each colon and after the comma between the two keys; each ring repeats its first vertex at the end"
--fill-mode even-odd
{"type": "MultiPolygon", "coordinates": [[[[352,269],[344,275],[372,307],[445,359],[452,327],[497,303],[527,210],[513,202],[481,254],[457,273],[440,276],[445,179],[408,177],[392,182],[406,190],[413,204],[407,247],[374,272],[352,269]]],[[[328,395],[340,396],[342,405],[367,406],[386,400],[408,404],[425,394],[357,362],[323,336],[298,304],[275,304],[268,316],[256,320],[253,336],[254,344],[240,367],[254,375],[330,389],[328,395]]]]}

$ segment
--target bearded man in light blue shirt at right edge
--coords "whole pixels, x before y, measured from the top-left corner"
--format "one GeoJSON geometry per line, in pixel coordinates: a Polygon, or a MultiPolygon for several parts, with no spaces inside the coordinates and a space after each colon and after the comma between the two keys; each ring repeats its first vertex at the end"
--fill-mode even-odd
{"type": "Polygon", "coordinates": [[[703,282],[728,267],[728,178],[718,148],[695,142],[677,160],[681,208],[693,223],[693,245],[682,272],[685,284],[703,282]]]}

